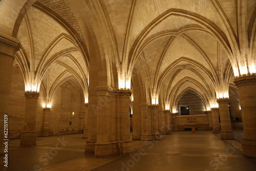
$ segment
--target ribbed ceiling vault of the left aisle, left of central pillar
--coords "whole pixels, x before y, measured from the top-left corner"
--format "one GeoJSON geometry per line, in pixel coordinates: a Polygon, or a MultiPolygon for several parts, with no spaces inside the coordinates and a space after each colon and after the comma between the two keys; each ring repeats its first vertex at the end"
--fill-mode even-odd
{"type": "Polygon", "coordinates": [[[71,79],[76,79],[73,83],[78,83],[76,87],[82,90],[83,95],[87,93],[87,56],[81,52],[82,47],[77,44],[74,33],[67,30],[68,27],[63,27],[48,13],[32,6],[17,34],[22,49],[16,54],[16,59],[20,66],[25,66],[25,84],[26,81],[42,83],[48,100],[60,84],[71,79]],[[28,80],[27,77],[33,79],[28,80]]]}

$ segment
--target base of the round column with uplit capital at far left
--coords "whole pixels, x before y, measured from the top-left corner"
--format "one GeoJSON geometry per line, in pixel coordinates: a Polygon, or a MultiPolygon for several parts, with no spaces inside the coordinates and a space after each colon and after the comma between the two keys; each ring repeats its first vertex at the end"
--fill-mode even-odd
{"type": "Polygon", "coordinates": [[[36,146],[36,132],[23,132],[20,136],[21,147],[36,146]]]}

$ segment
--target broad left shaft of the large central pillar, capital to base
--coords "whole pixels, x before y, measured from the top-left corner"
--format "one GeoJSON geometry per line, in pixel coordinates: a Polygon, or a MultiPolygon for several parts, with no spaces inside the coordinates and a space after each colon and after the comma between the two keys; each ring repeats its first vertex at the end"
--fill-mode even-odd
{"type": "MultiPolygon", "coordinates": [[[[98,157],[110,156],[114,154],[113,148],[116,148],[116,142],[111,141],[113,89],[110,87],[96,87],[95,90],[97,92],[97,141],[94,154],[98,157]]],[[[126,124],[125,122],[125,127],[126,124]]]]}

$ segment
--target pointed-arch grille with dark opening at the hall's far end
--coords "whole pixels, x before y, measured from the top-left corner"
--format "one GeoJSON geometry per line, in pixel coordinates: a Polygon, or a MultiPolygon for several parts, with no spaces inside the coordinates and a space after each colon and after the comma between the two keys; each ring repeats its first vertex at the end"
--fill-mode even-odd
{"type": "Polygon", "coordinates": [[[177,103],[176,111],[178,115],[207,114],[202,97],[192,90],[187,90],[181,95],[177,103]]]}

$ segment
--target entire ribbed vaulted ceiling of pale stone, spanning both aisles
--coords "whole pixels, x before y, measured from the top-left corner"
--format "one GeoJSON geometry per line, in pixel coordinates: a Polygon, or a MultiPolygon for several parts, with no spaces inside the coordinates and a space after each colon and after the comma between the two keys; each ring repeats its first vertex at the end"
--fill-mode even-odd
{"type": "MultiPolygon", "coordinates": [[[[246,7],[249,27],[256,1],[247,0],[246,7]]],[[[223,41],[237,37],[237,20],[236,0],[38,0],[19,27],[22,50],[16,58],[27,66],[24,72],[35,71],[49,95],[67,80],[79,82],[82,95],[89,79],[89,30],[97,34],[104,23],[118,52],[115,60],[140,74],[148,99],[161,95],[172,106],[189,88],[209,106],[217,90],[234,87],[226,47],[211,30],[223,41]]]]}

